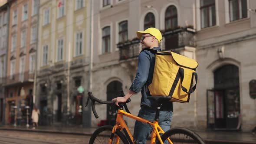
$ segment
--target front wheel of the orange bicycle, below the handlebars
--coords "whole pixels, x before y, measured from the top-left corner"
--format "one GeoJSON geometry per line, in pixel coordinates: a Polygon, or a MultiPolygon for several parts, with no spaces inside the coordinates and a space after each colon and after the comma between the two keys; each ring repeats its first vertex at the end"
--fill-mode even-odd
{"type": "MultiPolygon", "coordinates": [[[[113,126],[111,125],[104,125],[98,128],[96,131],[93,132],[89,144],[108,144],[109,138],[112,134],[112,129],[113,126]]],[[[115,144],[116,136],[120,137],[118,144],[129,144],[125,135],[119,130],[115,131],[112,144],[115,144]]]]}

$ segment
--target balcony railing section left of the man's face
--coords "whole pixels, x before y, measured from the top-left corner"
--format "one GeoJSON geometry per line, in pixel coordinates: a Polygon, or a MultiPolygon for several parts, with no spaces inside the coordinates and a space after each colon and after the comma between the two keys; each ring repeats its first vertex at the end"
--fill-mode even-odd
{"type": "Polygon", "coordinates": [[[140,39],[133,39],[125,43],[118,43],[120,60],[135,58],[139,55],[140,39]]]}

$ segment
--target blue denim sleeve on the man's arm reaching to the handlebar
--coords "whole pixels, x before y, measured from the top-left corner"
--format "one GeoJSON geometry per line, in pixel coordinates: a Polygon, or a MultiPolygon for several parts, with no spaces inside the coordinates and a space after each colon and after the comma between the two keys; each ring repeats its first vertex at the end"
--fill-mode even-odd
{"type": "Polygon", "coordinates": [[[129,88],[131,91],[136,93],[141,91],[143,85],[147,82],[148,72],[150,68],[150,56],[146,52],[141,52],[138,58],[138,70],[136,73],[135,80],[129,88]]]}

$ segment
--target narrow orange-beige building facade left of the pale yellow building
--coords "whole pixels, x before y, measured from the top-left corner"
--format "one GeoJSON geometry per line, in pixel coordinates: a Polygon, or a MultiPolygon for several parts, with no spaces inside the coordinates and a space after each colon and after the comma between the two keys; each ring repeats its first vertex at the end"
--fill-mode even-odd
{"type": "MultiPolygon", "coordinates": [[[[5,79],[5,121],[16,124],[15,112],[33,108],[34,71],[37,49],[39,0],[10,2],[10,21],[5,79]]],[[[22,122],[26,124],[26,115],[22,122]]]]}

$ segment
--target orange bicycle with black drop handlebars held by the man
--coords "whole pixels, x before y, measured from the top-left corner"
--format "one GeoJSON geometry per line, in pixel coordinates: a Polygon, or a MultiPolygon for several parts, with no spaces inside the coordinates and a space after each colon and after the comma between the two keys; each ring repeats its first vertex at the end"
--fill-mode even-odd
{"type": "MultiPolygon", "coordinates": [[[[113,104],[115,105],[115,101],[102,101],[98,98],[95,98],[92,95],[92,92],[88,92],[88,98],[85,107],[88,105],[89,100],[92,101],[92,112],[95,118],[98,118],[98,114],[95,110],[95,101],[100,104],[113,104]]],[[[121,96],[123,96],[123,92],[121,96]]],[[[164,141],[168,141],[169,144],[175,144],[178,142],[179,144],[205,144],[203,139],[196,134],[194,131],[191,131],[187,128],[171,128],[170,130],[164,132],[162,128],[158,125],[159,112],[161,108],[161,104],[164,101],[169,101],[171,97],[169,96],[159,96],[159,97],[148,97],[149,99],[153,99],[157,102],[157,111],[154,118],[154,121],[148,121],[143,118],[139,118],[135,115],[132,115],[128,110],[126,103],[130,102],[129,98],[125,103],[119,103],[118,111],[116,115],[116,124],[115,126],[105,125],[98,128],[90,138],[89,144],[138,144],[131,132],[129,131],[127,124],[125,123],[123,116],[128,118],[135,119],[137,121],[141,121],[146,124],[150,124],[153,128],[153,132],[151,134],[151,144],[155,144],[158,139],[158,144],[164,144],[164,141]],[[124,111],[125,108],[125,111],[124,111]],[[162,135],[160,135],[162,134],[162,135]]]]}

